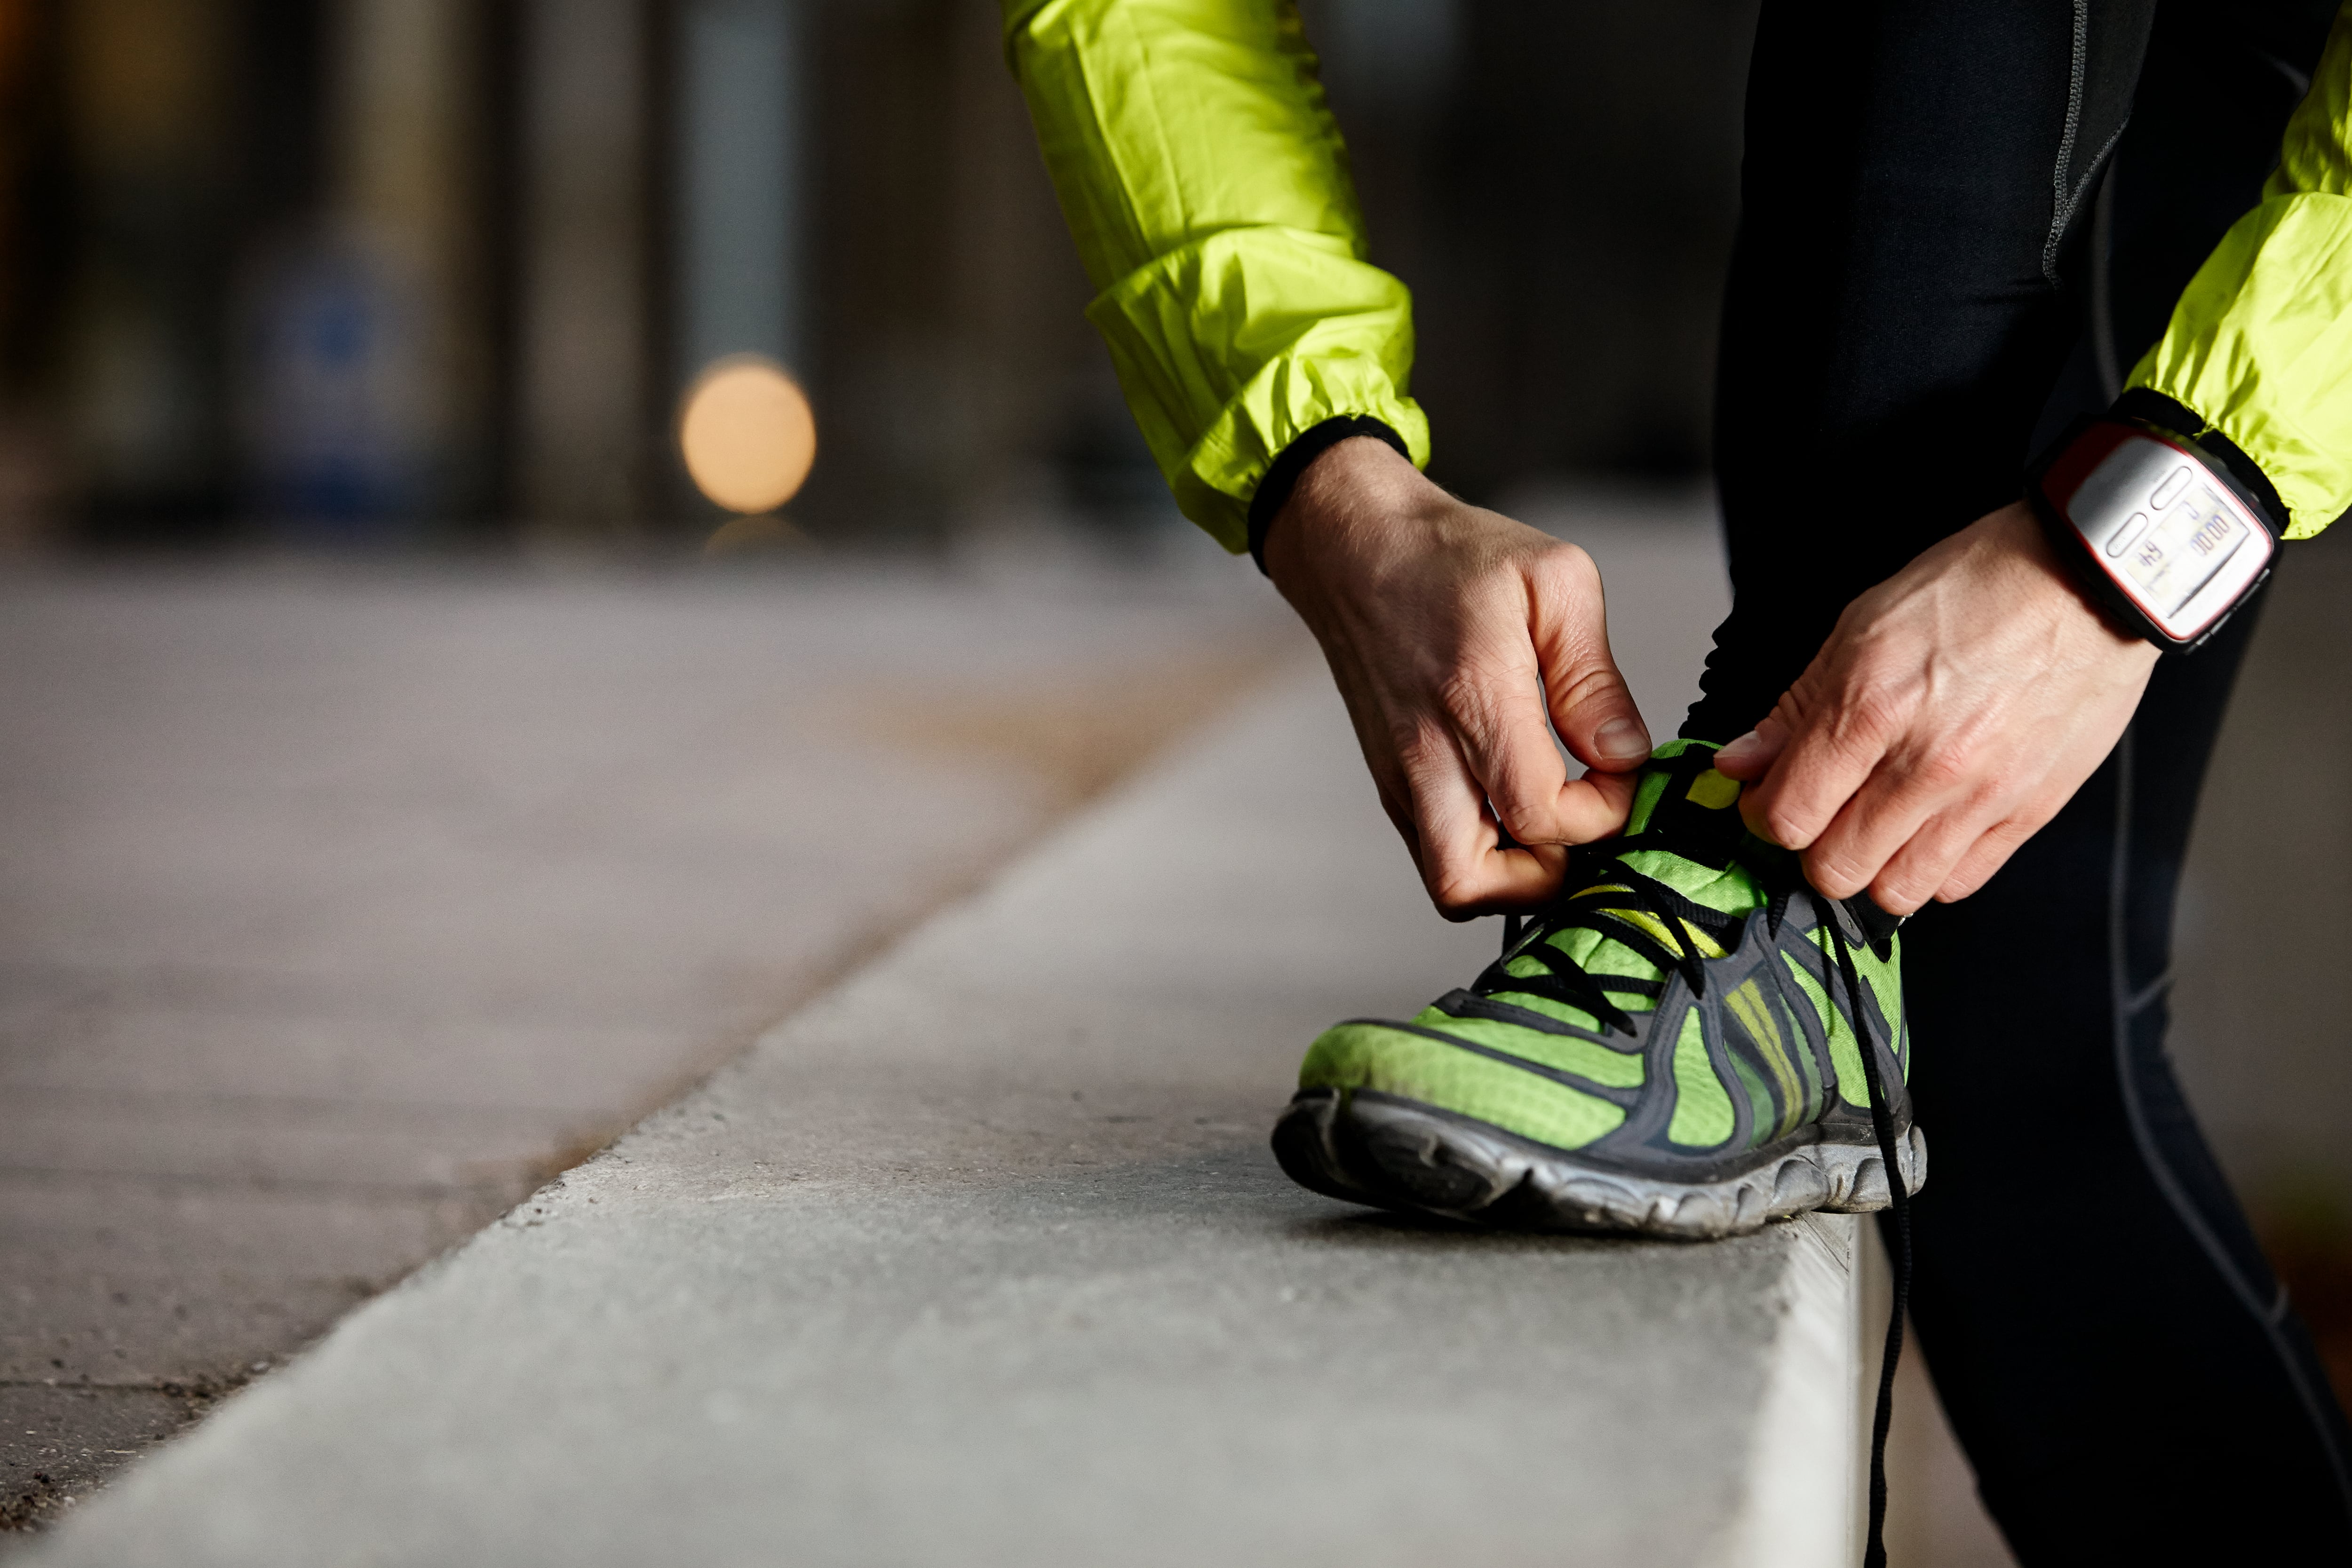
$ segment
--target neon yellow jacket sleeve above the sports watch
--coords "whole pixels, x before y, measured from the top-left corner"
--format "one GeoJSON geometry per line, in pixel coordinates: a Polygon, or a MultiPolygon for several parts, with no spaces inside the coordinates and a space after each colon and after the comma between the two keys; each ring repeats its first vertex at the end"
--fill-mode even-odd
{"type": "Polygon", "coordinates": [[[2129,386],[2164,393],[2253,458],[2286,503],[2288,538],[2352,508],[2352,5],[2260,207],[2213,247],[2129,386]]]}

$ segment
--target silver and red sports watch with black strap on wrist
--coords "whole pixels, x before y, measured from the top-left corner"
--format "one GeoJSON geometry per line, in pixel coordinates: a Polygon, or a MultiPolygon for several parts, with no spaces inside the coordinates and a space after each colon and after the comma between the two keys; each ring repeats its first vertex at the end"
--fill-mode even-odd
{"type": "Polygon", "coordinates": [[[2119,628],[2178,654],[2253,597],[2279,548],[2220,461],[2145,418],[2077,421],[2027,470],[2025,498],[2119,628]]]}

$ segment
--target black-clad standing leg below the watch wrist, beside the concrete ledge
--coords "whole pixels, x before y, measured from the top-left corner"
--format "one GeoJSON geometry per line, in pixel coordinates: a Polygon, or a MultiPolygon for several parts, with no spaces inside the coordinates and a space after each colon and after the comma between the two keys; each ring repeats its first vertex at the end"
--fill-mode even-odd
{"type": "Polygon", "coordinates": [[[2343,1418],[2164,1060],[2173,884],[2251,609],[2159,668],[1985,891],[1907,929],[1912,1314],[2025,1563],[2352,1556],[2343,1418]]]}

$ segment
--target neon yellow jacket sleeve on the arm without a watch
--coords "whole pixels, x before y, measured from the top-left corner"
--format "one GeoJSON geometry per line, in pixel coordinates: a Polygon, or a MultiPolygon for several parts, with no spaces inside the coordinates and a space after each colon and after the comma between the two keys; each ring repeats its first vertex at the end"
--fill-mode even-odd
{"type": "Polygon", "coordinates": [[[1087,320],[1185,517],[1244,550],[1265,468],[1343,414],[1428,463],[1411,296],[1364,261],[1291,0],[1004,0],[1004,42],[1087,320]]]}

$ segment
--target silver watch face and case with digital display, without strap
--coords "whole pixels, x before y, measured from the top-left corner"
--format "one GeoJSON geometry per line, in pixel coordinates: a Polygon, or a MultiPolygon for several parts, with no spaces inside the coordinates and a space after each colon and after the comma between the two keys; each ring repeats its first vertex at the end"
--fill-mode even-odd
{"type": "Polygon", "coordinates": [[[2201,637],[2270,567],[2270,531],[2244,501],[2201,456],[2154,435],[2100,425],[2049,480],[2091,559],[2176,642],[2201,637]],[[2112,444],[2100,440],[2110,433],[2112,444]],[[2072,494],[2065,480],[2077,480],[2072,494]]]}

